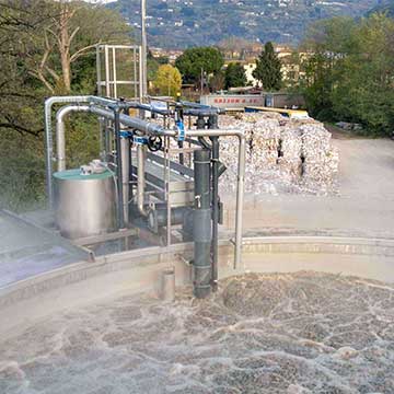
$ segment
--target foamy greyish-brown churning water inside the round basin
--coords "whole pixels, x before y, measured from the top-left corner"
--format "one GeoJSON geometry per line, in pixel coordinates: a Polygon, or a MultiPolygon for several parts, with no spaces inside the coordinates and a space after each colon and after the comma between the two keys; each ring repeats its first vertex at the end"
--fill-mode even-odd
{"type": "Polygon", "coordinates": [[[123,297],[0,344],[0,393],[394,393],[394,288],[298,273],[123,297]]]}

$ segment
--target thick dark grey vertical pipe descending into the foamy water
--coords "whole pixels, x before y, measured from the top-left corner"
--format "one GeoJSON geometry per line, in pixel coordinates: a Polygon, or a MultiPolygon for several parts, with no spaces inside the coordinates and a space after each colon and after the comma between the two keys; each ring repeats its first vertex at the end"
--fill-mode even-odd
{"type": "Polygon", "coordinates": [[[202,299],[210,294],[211,289],[210,151],[195,151],[194,165],[194,294],[202,299]]]}

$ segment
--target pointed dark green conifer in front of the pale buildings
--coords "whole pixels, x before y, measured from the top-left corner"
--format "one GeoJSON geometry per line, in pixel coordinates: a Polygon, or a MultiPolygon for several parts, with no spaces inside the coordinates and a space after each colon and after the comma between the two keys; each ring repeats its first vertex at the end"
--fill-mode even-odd
{"type": "Polygon", "coordinates": [[[281,62],[274,50],[273,43],[265,44],[262,54],[256,60],[253,77],[262,82],[266,91],[278,91],[281,88],[281,62]]]}

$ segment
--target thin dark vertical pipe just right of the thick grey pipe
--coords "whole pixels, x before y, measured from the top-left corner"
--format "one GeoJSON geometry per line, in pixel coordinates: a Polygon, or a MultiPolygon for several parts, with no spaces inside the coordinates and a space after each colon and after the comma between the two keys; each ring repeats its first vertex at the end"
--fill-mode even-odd
{"type": "MultiPolygon", "coordinates": [[[[218,115],[208,120],[208,128],[218,128],[218,115]]],[[[219,137],[210,137],[212,142],[212,290],[218,289],[219,247],[219,137]]]]}

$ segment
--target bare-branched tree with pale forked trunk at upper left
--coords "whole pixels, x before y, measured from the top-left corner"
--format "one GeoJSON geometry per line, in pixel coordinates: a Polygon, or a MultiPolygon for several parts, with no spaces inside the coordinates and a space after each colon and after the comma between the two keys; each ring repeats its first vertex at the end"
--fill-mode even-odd
{"type": "Polygon", "coordinates": [[[38,32],[43,50],[31,57],[32,76],[55,93],[71,91],[72,65],[99,44],[129,42],[120,15],[100,5],[61,0],[50,4],[50,18],[38,32]],[[60,60],[60,68],[56,62],[60,60]]]}

